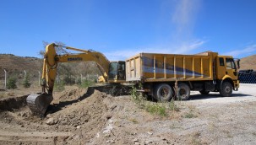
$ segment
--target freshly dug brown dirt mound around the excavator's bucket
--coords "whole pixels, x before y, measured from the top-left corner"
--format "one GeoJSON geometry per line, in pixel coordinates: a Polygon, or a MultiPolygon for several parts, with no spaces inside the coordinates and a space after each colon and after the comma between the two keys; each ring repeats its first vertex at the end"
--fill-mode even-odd
{"type": "MultiPolygon", "coordinates": [[[[17,106],[10,109],[5,107],[6,111],[0,112],[0,117],[3,118],[0,121],[0,126],[3,126],[0,144],[17,144],[17,140],[12,140],[14,137],[25,144],[44,139],[45,144],[90,142],[112,117],[108,111],[109,106],[106,105],[106,102],[112,101],[112,97],[97,90],[87,91],[86,94],[82,92],[84,89],[71,89],[61,93],[55,103],[50,105],[50,110],[43,119],[31,115],[23,101],[18,103],[19,107],[22,106],[19,110],[13,109],[17,106]]],[[[25,96],[15,99],[24,98],[25,96]]],[[[4,100],[1,105],[13,104],[15,99],[4,100]]]]}

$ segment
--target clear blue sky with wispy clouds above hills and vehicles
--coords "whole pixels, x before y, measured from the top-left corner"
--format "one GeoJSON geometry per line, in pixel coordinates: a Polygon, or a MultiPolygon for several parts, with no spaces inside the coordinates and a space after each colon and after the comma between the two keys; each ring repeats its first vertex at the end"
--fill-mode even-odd
{"type": "Polygon", "coordinates": [[[0,53],[38,56],[42,41],[101,51],[256,53],[255,0],[1,0],[0,53]]]}

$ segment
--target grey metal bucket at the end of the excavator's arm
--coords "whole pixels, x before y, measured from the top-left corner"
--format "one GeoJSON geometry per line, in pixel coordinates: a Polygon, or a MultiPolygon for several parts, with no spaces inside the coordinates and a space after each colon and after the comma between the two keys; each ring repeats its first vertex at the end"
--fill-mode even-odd
{"type": "Polygon", "coordinates": [[[52,102],[52,94],[30,94],[26,101],[34,115],[45,115],[48,105],[52,102]]]}

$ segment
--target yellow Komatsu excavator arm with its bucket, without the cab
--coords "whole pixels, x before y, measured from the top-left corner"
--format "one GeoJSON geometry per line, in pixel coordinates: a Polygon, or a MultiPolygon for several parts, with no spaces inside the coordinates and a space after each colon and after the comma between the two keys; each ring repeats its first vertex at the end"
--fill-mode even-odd
{"type": "Polygon", "coordinates": [[[107,80],[108,67],[110,62],[106,56],[96,51],[85,51],[73,47],[63,46],[66,49],[80,51],[79,54],[57,55],[54,43],[46,46],[42,69],[42,92],[39,94],[30,94],[27,97],[27,105],[34,115],[44,115],[48,105],[52,102],[52,92],[57,76],[57,64],[59,62],[96,62],[101,70],[102,76],[107,80]]]}

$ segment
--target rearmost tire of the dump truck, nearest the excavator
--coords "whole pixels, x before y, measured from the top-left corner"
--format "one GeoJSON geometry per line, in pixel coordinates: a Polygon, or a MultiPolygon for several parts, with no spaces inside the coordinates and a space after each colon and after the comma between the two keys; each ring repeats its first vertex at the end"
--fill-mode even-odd
{"type": "Polygon", "coordinates": [[[165,102],[172,99],[172,88],[169,84],[160,83],[154,89],[154,97],[157,101],[165,102]]]}

